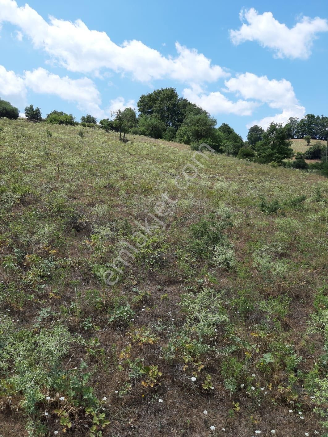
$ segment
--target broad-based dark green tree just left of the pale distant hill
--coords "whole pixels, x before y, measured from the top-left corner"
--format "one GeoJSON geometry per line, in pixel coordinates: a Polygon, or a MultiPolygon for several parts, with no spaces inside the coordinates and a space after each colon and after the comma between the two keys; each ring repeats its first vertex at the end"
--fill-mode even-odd
{"type": "Polygon", "coordinates": [[[256,143],[258,161],[281,163],[284,159],[291,158],[294,154],[291,144],[283,125],[272,122],[263,133],[262,141],[256,143]]]}

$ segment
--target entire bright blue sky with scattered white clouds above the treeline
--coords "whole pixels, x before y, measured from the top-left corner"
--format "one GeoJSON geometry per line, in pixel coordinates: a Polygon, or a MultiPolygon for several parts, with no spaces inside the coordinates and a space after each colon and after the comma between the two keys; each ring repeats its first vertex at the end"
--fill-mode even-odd
{"type": "Polygon", "coordinates": [[[328,114],[326,1],[27,4],[0,0],[0,98],[21,112],[99,120],[175,87],[243,137],[328,114]]]}

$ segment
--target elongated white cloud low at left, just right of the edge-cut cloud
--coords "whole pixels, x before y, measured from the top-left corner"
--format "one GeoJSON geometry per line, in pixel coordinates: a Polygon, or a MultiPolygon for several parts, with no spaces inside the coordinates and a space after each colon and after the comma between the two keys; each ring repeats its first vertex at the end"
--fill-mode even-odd
{"type": "Polygon", "coordinates": [[[24,83],[35,93],[52,94],[63,100],[74,102],[81,111],[87,111],[96,117],[105,115],[99,107],[100,93],[94,82],[87,77],[82,79],[60,77],[40,67],[33,71],[26,71],[24,83]]]}

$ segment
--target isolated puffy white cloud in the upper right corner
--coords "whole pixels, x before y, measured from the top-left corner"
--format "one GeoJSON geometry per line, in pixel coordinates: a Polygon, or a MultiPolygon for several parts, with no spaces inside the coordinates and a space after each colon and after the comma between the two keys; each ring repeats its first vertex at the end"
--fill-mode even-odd
{"type": "Polygon", "coordinates": [[[257,41],[262,47],[275,52],[277,58],[307,59],[319,32],[328,31],[328,21],[319,17],[302,17],[293,28],[279,23],[272,12],[258,14],[254,8],[241,10],[243,23],[238,30],[230,30],[230,39],[238,45],[245,41],[257,41]]]}

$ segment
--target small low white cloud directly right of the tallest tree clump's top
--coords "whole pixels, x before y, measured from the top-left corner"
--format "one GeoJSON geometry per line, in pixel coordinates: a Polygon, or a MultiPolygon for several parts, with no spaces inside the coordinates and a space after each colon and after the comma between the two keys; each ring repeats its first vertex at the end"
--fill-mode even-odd
{"type": "Polygon", "coordinates": [[[220,91],[214,91],[206,94],[203,90],[199,89],[199,87],[185,88],[182,94],[183,97],[199,105],[210,114],[224,113],[251,115],[253,110],[259,106],[259,104],[254,101],[231,101],[222,93],[220,93],[220,91]]]}

